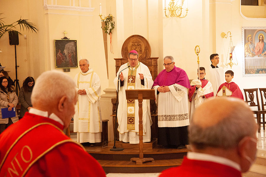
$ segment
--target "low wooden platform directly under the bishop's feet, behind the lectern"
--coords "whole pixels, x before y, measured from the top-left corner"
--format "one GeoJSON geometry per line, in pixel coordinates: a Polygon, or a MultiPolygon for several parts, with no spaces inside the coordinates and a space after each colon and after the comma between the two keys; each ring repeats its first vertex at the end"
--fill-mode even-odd
{"type": "MultiPolygon", "coordinates": [[[[114,145],[113,141],[108,143],[108,146],[113,146],[113,145],[114,145]]],[[[152,149],[156,145],[157,145],[157,141],[144,142],[143,149],[152,149]]],[[[129,143],[124,143],[122,141],[116,141],[116,148],[139,149],[139,144],[129,144],[129,143]]]]}

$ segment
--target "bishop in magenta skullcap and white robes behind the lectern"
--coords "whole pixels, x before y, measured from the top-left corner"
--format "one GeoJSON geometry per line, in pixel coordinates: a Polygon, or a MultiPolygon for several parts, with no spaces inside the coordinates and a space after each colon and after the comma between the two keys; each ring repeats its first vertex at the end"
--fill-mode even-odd
{"type": "MultiPolygon", "coordinates": [[[[137,100],[126,100],[126,89],[151,89],[153,79],[149,68],[138,61],[139,54],[132,50],[128,55],[128,63],[121,65],[114,79],[117,87],[119,81],[119,105],[117,111],[119,140],[130,144],[139,143],[139,106],[137,100]],[[123,70],[124,69],[124,70],[123,70]],[[122,71],[123,70],[123,71],[122,71]],[[121,72],[120,75],[119,72],[121,72]]],[[[117,89],[117,88],[116,88],[117,89]]],[[[143,142],[150,142],[152,124],[150,100],[143,100],[143,142]]]]}

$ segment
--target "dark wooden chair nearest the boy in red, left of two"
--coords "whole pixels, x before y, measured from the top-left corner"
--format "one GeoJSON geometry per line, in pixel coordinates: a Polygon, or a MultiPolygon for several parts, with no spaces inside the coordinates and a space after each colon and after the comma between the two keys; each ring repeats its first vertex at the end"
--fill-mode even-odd
{"type": "Polygon", "coordinates": [[[246,98],[246,102],[251,107],[257,107],[257,109],[252,110],[254,114],[256,114],[257,124],[258,124],[258,133],[260,132],[260,124],[263,124],[261,122],[261,114],[263,114],[264,111],[260,110],[259,106],[259,97],[258,97],[258,89],[244,89],[244,94],[246,98]],[[256,103],[254,102],[254,92],[256,95],[256,103]],[[249,98],[249,99],[248,99],[249,98]]]}

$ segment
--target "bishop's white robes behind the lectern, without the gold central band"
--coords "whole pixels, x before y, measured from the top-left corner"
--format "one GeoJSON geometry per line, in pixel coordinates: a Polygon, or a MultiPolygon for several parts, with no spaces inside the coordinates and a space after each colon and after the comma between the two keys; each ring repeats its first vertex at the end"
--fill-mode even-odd
{"type": "MultiPolygon", "coordinates": [[[[149,68],[144,65],[143,63],[139,62],[140,65],[137,68],[136,71],[136,78],[135,78],[135,88],[134,89],[151,89],[153,85],[153,79],[150,74],[149,68]],[[139,73],[142,73],[144,76],[144,86],[141,84],[140,75],[139,73]]],[[[135,107],[134,107],[134,113],[135,113],[135,130],[127,130],[127,100],[126,100],[126,89],[132,89],[132,86],[130,88],[127,88],[127,79],[128,79],[128,73],[129,68],[128,63],[125,63],[124,65],[121,65],[119,68],[119,71],[117,72],[117,76],[114,79],[114,84],[117,87],[117,82],[119,79],[118,73],[122,71],[124,76],[124,85],[120,87],[119,83],[119,105],[118,105],[118,111],[117,111],[117,119],[118,119],[118,131],[119,131],[119,140],[124,142],[129,142],[131,144],[139,143],[139,107],[138,107],[138,100],[135,100],[135,107]]],[[[134,69],[134,68],[133,68],[134,69]]],[[[117,88],[116,88],[117,89],[117,88]]],[[[149,142],[150,141],[150,126],[152,124],[151,121],[151,115],[150,115],[150,100],[143,100],[142,102],[142,109],[143,109],[143,142],[149,142]],[[147,134],[147,135],[146,135],[147,134]]]]}

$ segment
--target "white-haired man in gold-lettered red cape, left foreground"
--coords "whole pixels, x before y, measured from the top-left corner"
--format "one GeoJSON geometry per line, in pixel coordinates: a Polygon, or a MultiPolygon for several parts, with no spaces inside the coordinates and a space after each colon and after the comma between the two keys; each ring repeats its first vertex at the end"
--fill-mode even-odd
{"type": "Polygon", "coordinates": [[[100,164],[62,131],[77,103],[73,79],[59,71],[42,73],[31,101],[23,119],[0,134],[0,176],[104,177],[100,164]]]}

